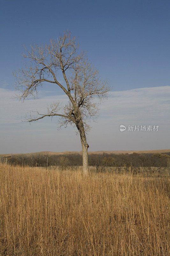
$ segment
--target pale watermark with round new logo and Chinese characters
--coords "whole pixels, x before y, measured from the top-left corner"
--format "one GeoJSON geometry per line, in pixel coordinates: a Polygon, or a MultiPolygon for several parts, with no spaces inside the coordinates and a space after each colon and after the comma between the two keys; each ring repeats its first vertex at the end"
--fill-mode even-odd
{"type": "MultiPolygon", "coordinates": [[[[128,132],[158,132],[159,125],[128,125],[128,132]]],[[[126,126],[121,124],[120,131],[126,131],[126,126]]]]}

